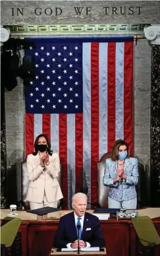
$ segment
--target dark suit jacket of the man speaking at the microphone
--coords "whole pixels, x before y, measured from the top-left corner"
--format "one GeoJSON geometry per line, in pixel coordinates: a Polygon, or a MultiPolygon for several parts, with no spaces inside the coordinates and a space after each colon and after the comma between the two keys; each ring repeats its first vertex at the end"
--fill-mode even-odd
{"type": "MultiPolygon", "coordinates": [[[[77,239],[74,212],[70,212],[60,218],[54,245],[58,248],[65,248],[67,243],[74,243],[77,239]]],[[[88,241],[92,247],[102,247],[105,245],[99,219],[88,212],[85,212],[84,215],[81,240],[88,241]]]]}

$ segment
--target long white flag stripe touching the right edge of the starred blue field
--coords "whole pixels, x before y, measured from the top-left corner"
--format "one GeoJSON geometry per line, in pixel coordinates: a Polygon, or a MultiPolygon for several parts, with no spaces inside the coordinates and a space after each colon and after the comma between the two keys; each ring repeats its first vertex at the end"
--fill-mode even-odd
{"type": "Polygon", "coordinates": [[[88,201],[91,200],[91,44],[84,43],[82,49],[83,67],[83,166],[88,184],[88,201]]]}

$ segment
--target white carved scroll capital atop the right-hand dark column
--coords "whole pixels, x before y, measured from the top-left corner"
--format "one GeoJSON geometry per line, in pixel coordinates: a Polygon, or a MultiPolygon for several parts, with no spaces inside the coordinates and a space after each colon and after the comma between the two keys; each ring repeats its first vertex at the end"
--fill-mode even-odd
{"type": "Polygon", "coordinates": [[[149,24],[144,27],[144,34],[151,44],[160,45],[160,24],[149,24]]]}

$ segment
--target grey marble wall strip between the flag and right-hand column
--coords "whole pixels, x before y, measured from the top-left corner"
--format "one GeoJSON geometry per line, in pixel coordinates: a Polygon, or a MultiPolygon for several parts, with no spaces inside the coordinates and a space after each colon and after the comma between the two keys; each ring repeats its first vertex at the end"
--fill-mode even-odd
{"type": "Polygon", "coordinates": [[[150,158],[151,46],[139,40],[134,50],[134,154],[142,164],[150,158]]]}

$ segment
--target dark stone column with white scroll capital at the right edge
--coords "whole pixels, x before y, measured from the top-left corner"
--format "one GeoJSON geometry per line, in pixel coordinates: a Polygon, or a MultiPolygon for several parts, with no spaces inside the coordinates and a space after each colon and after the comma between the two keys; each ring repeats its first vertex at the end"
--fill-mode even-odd
{"type": "Polygon", "coordinates": [[[160,207],[160,24],[144,32],[151,40],[151,206],[160,207]]]}

